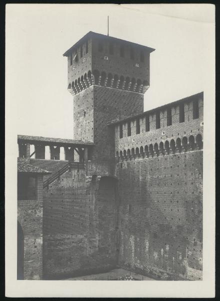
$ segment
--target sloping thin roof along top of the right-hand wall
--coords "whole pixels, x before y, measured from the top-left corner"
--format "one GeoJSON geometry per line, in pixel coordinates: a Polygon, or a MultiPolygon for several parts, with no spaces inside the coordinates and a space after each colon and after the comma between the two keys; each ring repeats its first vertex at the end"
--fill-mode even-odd
{"type": "Polygon", "coordinates": [[[126,117],[126,118],[123,118],[123,119],[119,119],[118,118],[118,119],[111,120],[110,122],[108,122],[108,125],[113,125],[113,124],[117,124],[117,123],[120,123],[120,122],[125,122],[127,120],[135,119],[137,117],[143,117],[146,114],[152,113],[154,111],[165,109],[165,108],[170,107],[170,106],[175,106],[175,105],[178,105],[181,102],[192,101],[192,100],[197,99],[198,97],[201,97],[203,99],[203,92],[199,92],[197,94],[193,94],[193,95],[187,96],[185,98],[182,98],[182,99],[179,99],[179,100],[176,100],[176,101],[173,101],[173,102],[161,105],[159,107],[153,108],[151,110],[145,111],[145,112],[140,113],[140,114],[130,115],[129,117],[126,117]]]}

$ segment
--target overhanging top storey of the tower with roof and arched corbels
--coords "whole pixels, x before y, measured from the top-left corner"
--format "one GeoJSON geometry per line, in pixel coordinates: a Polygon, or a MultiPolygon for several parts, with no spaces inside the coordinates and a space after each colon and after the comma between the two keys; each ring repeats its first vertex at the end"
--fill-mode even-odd
{"type": "Polygon", "coordinates": [[[68,57],[68,90],[77,94],[92,84],[144,93],[149,86],[153,48],[89,32],[63,56],[68,57]]]}

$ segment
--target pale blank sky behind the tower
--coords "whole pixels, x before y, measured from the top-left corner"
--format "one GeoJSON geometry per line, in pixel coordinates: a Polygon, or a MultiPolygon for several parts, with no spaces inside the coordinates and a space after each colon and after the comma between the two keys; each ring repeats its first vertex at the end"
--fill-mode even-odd
{"type": "Polygon", "coordinates": [[[213,89],[211,5],[7,5],[6,112],[17,134],[72,138],[62,54],[88,31],[107,34],[107,16],[109,36],[155,48],[144,110],[213,89]]]}

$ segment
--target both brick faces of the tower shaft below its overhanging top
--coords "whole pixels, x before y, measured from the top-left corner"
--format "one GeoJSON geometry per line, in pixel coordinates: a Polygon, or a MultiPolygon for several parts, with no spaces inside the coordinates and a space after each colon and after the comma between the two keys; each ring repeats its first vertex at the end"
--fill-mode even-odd
{"type": "Polygon", "coordinates": [[[141,113],[143,94],[93,85],[74,95],[73,111],[74,139],[94,142],[91,160],[112,162],[114,134],[107,123],[141,113]]]}

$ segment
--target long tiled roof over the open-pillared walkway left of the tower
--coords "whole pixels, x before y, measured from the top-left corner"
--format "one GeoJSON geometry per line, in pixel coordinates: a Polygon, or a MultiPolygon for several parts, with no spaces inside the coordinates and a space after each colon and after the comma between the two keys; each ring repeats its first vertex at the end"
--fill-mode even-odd
{"type": "Polygon", "coordinates": [[[41,136],[27,136],[17,135],[17,140],[26,142],[49,142],[49,143],[62,143],[62,144],[74,144],[74,145],[93,145],[93,142],[88,140],[73,140],[73,139],[62,139],[62,138],[50,138],[41,136]]]}

